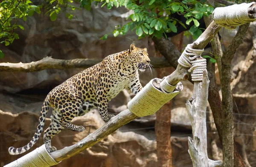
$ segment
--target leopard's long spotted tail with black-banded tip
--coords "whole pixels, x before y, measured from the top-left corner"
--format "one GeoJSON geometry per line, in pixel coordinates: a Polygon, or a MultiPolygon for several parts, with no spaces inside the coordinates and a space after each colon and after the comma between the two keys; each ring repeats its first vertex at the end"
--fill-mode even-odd
{"type": "Polygon", "coordinates": [[[50,107],[50,104],[49,104],[48,98],[46,98],[42,105],[40,117],[38,120],[37,130],[36,130],[35,135],[33,136],[32,140],[27,145],[20,147],[20,148],[9,147],[9,154],[11,154],[11,155],[22,154],[22,153],[26,152],[27,150],[29,150],[38,141],[39,136],[41,135],[41,132],[44,128],[44,121],[45,121],[47,112],[49,111],[49,107],[50,107]]]}

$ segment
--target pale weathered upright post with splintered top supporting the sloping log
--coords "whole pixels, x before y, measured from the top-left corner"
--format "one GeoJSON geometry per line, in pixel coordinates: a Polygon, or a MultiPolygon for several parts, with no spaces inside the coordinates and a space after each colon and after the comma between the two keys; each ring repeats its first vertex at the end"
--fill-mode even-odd
{"type": "Polygon", "coordinates": [[[192,98],[186,103],[192,126],[193,140],[189,137],[189,154],[193,167],[221,167],[221,161],[212,161],[207,154],[206,107],[209,79],[204,71],[203,82],[195,82],[192,98]]]}

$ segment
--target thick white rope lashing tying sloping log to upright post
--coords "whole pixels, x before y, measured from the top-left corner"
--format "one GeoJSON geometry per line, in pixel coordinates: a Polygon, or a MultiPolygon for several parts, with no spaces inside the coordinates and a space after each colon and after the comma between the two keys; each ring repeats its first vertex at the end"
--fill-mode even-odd
{"type": "Polygon", "coordinates": [[[204,49],[192,49],[190,44],[186,46],[181,54],[178,63],[184,67],[190,67],[189,72],[192,72],[192,81],[203,81],[203,71],[206,69],[206,59],[201,57],[204,49]],[[196,58],[201,58],[195,60],[196,58]]]}

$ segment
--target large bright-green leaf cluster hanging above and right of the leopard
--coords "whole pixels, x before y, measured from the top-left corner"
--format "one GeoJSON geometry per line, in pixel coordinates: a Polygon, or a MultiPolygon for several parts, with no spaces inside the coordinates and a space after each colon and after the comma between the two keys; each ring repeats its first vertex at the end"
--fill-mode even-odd
{"type": "MultiPolygon", "coordinates": [[[[123,26],[117,25],[113,30],[113,36],[125,35],[128,30],[136,32],[141,37],[147,35],[157,38],[166,36],[168,32],[177,32],[176,24],[185,25],[172,17],[172,14],[178,13],[184,15],[187,19],[186,24],[191,23],[194,26],[190,31],[195,37],[201,35],[202,31],[198,28],[199,22],[204,15],[208,16],[212,13],[213,7],[205,3],[205,0],[101,0],[103,6],[108,9],[112,7],[125,6],[133,10],[134,14],[127,17],[131,21],[123,26]]],[[[81,0],[81,6],[90,9],[91,0],[81,0]]],[[[96,2],[98,4],[98,2],[96,2]]],[[[108,35],[104,35],[102,39],[106,39],[108,35]]]]}

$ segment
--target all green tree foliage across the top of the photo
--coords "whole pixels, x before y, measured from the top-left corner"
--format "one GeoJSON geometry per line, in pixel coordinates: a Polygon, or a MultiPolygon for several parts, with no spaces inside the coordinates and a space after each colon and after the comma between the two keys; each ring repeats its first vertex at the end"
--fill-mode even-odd
{"type": "MultiPolygon", "coordinates": [[[[213,11],[213,7],[205,3],[205,0],[76,0],[76,3],[80,3],[80,7],[86,10],[90,10],[92,3],[108,9],[124,6],[133,10],[134,13],[127,17],[130,22],[115,26],[114,37],[125,35],[129,30],[135,31],[139,38],[148,35],[160,38],[168,32],[177,32],[177,24],[185,27],[180,20],[172,17],[172,14],[178,13],[187,19],[187,25],[194,24],[190,33],[196,38],[202,33],[198,28],[198,20],[213,11]]],[[[30,0],[3,0],[0,3],[0,43],[8,46],[19,39],[15,29],[24,28],[18,24],[18,20],[26,21],[27,17],[35,13],[41,14],[42,10],[52,21],[63,11],[67,18],[73,19],[71,13],[75,9],[73,0],[46,0],[40,4],[33,4],[30,0]]],[[[107,37],[108,34],[101,39],[105,40],[107,37]]],[[[0,51],[0,58],[2,57],[3,52],[0,51]]]]}

